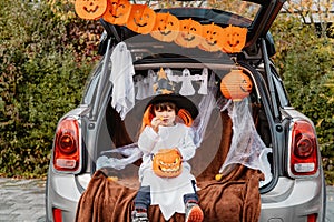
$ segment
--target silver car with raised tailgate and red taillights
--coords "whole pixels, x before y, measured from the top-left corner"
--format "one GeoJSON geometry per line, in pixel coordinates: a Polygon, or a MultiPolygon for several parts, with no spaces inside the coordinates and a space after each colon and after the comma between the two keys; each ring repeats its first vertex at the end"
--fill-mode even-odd
{"type": "Polygon", "coordinates": [[[160,79],[168,80],[167,87],[173,82],[174,92],[191,100],[203,118],[199,123],[204,128],[195,128],[199,132],[198,149],[190,161],[199,186],[207,178],[204,175],[222,181],[243,165],[253,173],[261,172],[254,191],[259,196],[259,221],[325,221],[325,182],[314,124],[291,107],[269,59],[275,47],[268,29],[283,3],[242,1],[238,12],[194,6],[156,10],[180,20],[191,18],[203,26],[214,22],[222,28],[247,28],[242,50],[233,53],[158,41],[150,34],[138,34],[100,19],[105,33],[99,53],[104,57],[88,79],[81,104],[66,113],[56,130],[46,191],[47,221],[75,221],[80,198],[98,170],[120,185],[139,188],[140,157],[135,159],[127,151],[136,147],[144,110],[156,92],[147,85],[153,87],[160,79]],[[131,54],[129,64],[121,65],[130,65],[134,75],[119,75],[112,69],[116,64],[111,57],[120,43],[131,54]],[[232,87],[227,85],[226,94],[224,81],[234,71],[246,74],[248,80],[235,80],[232,87]],[[129,82],[125,83],[124,78],[129,82]],[[117,92],[124,90],[130,102],[122,112],[115,103],[117,92]],[[244,110],[237,111],[237,107],[244,110]],[[229,151],[222,154],[222,148],[229,151]]]}

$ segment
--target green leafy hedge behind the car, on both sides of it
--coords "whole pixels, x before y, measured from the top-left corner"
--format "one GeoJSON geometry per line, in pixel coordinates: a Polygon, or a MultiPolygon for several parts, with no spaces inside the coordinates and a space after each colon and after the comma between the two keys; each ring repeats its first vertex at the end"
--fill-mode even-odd
{"type": "MultiPolygon", "coordinates": [[[[0,1],[0,175],[42,176],[59,118],[78,105],[98,56],[101,27],[78,19],[73,0],[0,1]]],[[[168,1],[170,3],[171,1],[168,1]]],[[[328,33],[333,34],[333,26],[328,33]]],[[[271,29],[293,105],[316,125],[334,181],[334,42],[281,14],[271,29]]]]}

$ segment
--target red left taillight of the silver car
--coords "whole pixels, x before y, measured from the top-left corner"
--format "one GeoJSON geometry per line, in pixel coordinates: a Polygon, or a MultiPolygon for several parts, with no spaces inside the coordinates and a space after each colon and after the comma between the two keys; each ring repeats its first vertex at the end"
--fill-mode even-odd
{"type": "Polygon", "coordinates": [[[66,118],[58,124],[53,149],[53,167],[58,171],[77,171],[80,167],[79,123],[66,118]]]}

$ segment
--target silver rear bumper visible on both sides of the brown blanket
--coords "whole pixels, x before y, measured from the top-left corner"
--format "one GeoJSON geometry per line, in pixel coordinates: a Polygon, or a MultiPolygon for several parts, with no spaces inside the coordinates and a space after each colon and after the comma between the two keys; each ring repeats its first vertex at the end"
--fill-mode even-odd
{"type": "MultiPolygon", "coordinates": [[[[75,178],[70,174],[49,173],[47,189],[47,216],[53,221],[52,209],[61,210],[63,222],[75,221],[81,189],[86,189],[89,174],[75,178]]],[[[279,178],[277,185],[268,193],[262,194],[261,222],[306,222],[315,214],[323,221],[325,185],[321,178],[316,180],[291,180],[279,178]]]]}

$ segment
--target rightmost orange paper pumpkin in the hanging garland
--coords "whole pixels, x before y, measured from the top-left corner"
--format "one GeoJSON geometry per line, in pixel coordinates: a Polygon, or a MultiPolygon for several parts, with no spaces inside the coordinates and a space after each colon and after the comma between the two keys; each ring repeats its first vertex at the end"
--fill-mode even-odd
{"type": "Polygon", "coordinates": [[[240,52],[246,43],[247,29],[240,27],[226,27],[222,34],[222,47],[227,53],[240,52]]]}

